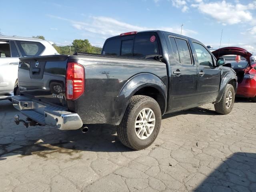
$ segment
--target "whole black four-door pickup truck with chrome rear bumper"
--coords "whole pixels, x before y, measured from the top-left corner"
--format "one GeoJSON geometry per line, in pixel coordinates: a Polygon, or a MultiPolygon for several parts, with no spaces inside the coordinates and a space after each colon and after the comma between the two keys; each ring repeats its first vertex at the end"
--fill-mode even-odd
{"type": "Polygon", "coordinates": [[[228,114],[236,73],[201,42],[164,31],[128,32],[108,38],[102,54],[20,58],[15,108],[27,126],[88,130],[112,124],[135,150],[154,142],[166,113],[213,103],[228,114]]]}

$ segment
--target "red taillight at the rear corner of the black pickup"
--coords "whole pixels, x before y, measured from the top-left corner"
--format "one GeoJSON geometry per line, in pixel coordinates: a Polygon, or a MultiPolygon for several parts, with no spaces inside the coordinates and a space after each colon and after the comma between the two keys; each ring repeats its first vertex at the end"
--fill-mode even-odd
{"type": "Polygon", "coordinates": [[[66,98],[74,100],[84,93],[84,67],[75,62],[68,62],[66,70],[66,98]]]}

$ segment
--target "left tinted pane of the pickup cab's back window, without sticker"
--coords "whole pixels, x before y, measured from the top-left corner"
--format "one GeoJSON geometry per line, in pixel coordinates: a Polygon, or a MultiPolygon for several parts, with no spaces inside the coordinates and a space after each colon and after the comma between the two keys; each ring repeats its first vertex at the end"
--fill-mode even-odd
{"type": "Polygon", "coordinates": [[[102,51],[102,54],[119,56],[120,46],[121,46],[121,41],[119,38],[109,40],[108,42],[106,42],[104,49],[102,51]]]}

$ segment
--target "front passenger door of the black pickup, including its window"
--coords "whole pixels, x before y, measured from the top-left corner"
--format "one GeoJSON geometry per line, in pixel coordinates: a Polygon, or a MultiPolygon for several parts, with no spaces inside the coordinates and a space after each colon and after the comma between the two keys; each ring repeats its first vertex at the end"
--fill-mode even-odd
{"type": "Polygon", "coordinates": [[[200,102],[214,102],[220,87],[220,70],[214,66],[209,50],[198,42],[192,42],[198,65],[198,97],[200,102]]]}

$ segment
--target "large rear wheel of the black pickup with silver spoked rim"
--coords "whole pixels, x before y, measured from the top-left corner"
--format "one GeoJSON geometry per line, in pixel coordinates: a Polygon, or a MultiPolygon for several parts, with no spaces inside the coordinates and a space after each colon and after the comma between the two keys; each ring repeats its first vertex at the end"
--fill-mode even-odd
{"type": "Polygon", "coordinates": [[[122,144],[134,150],[147,148],[156,140],[161,126],[161,120],[161,110],[156,100],[143,95],[132,96],[122,121],[116,128],[118,138],[122,144]],[[152,122],[150,120],[144,120],[144,123],[138,123],[142,119],[143,111],[145,112],[144,114],[151,114],[151,116],[148,115],[150,116],[150,120],[155,120],[152,122]],[[154,128],[152,128],[153,124],[154,128]],[[135,125],[141,126],[141,128],[135,128],[135,125]]]}

